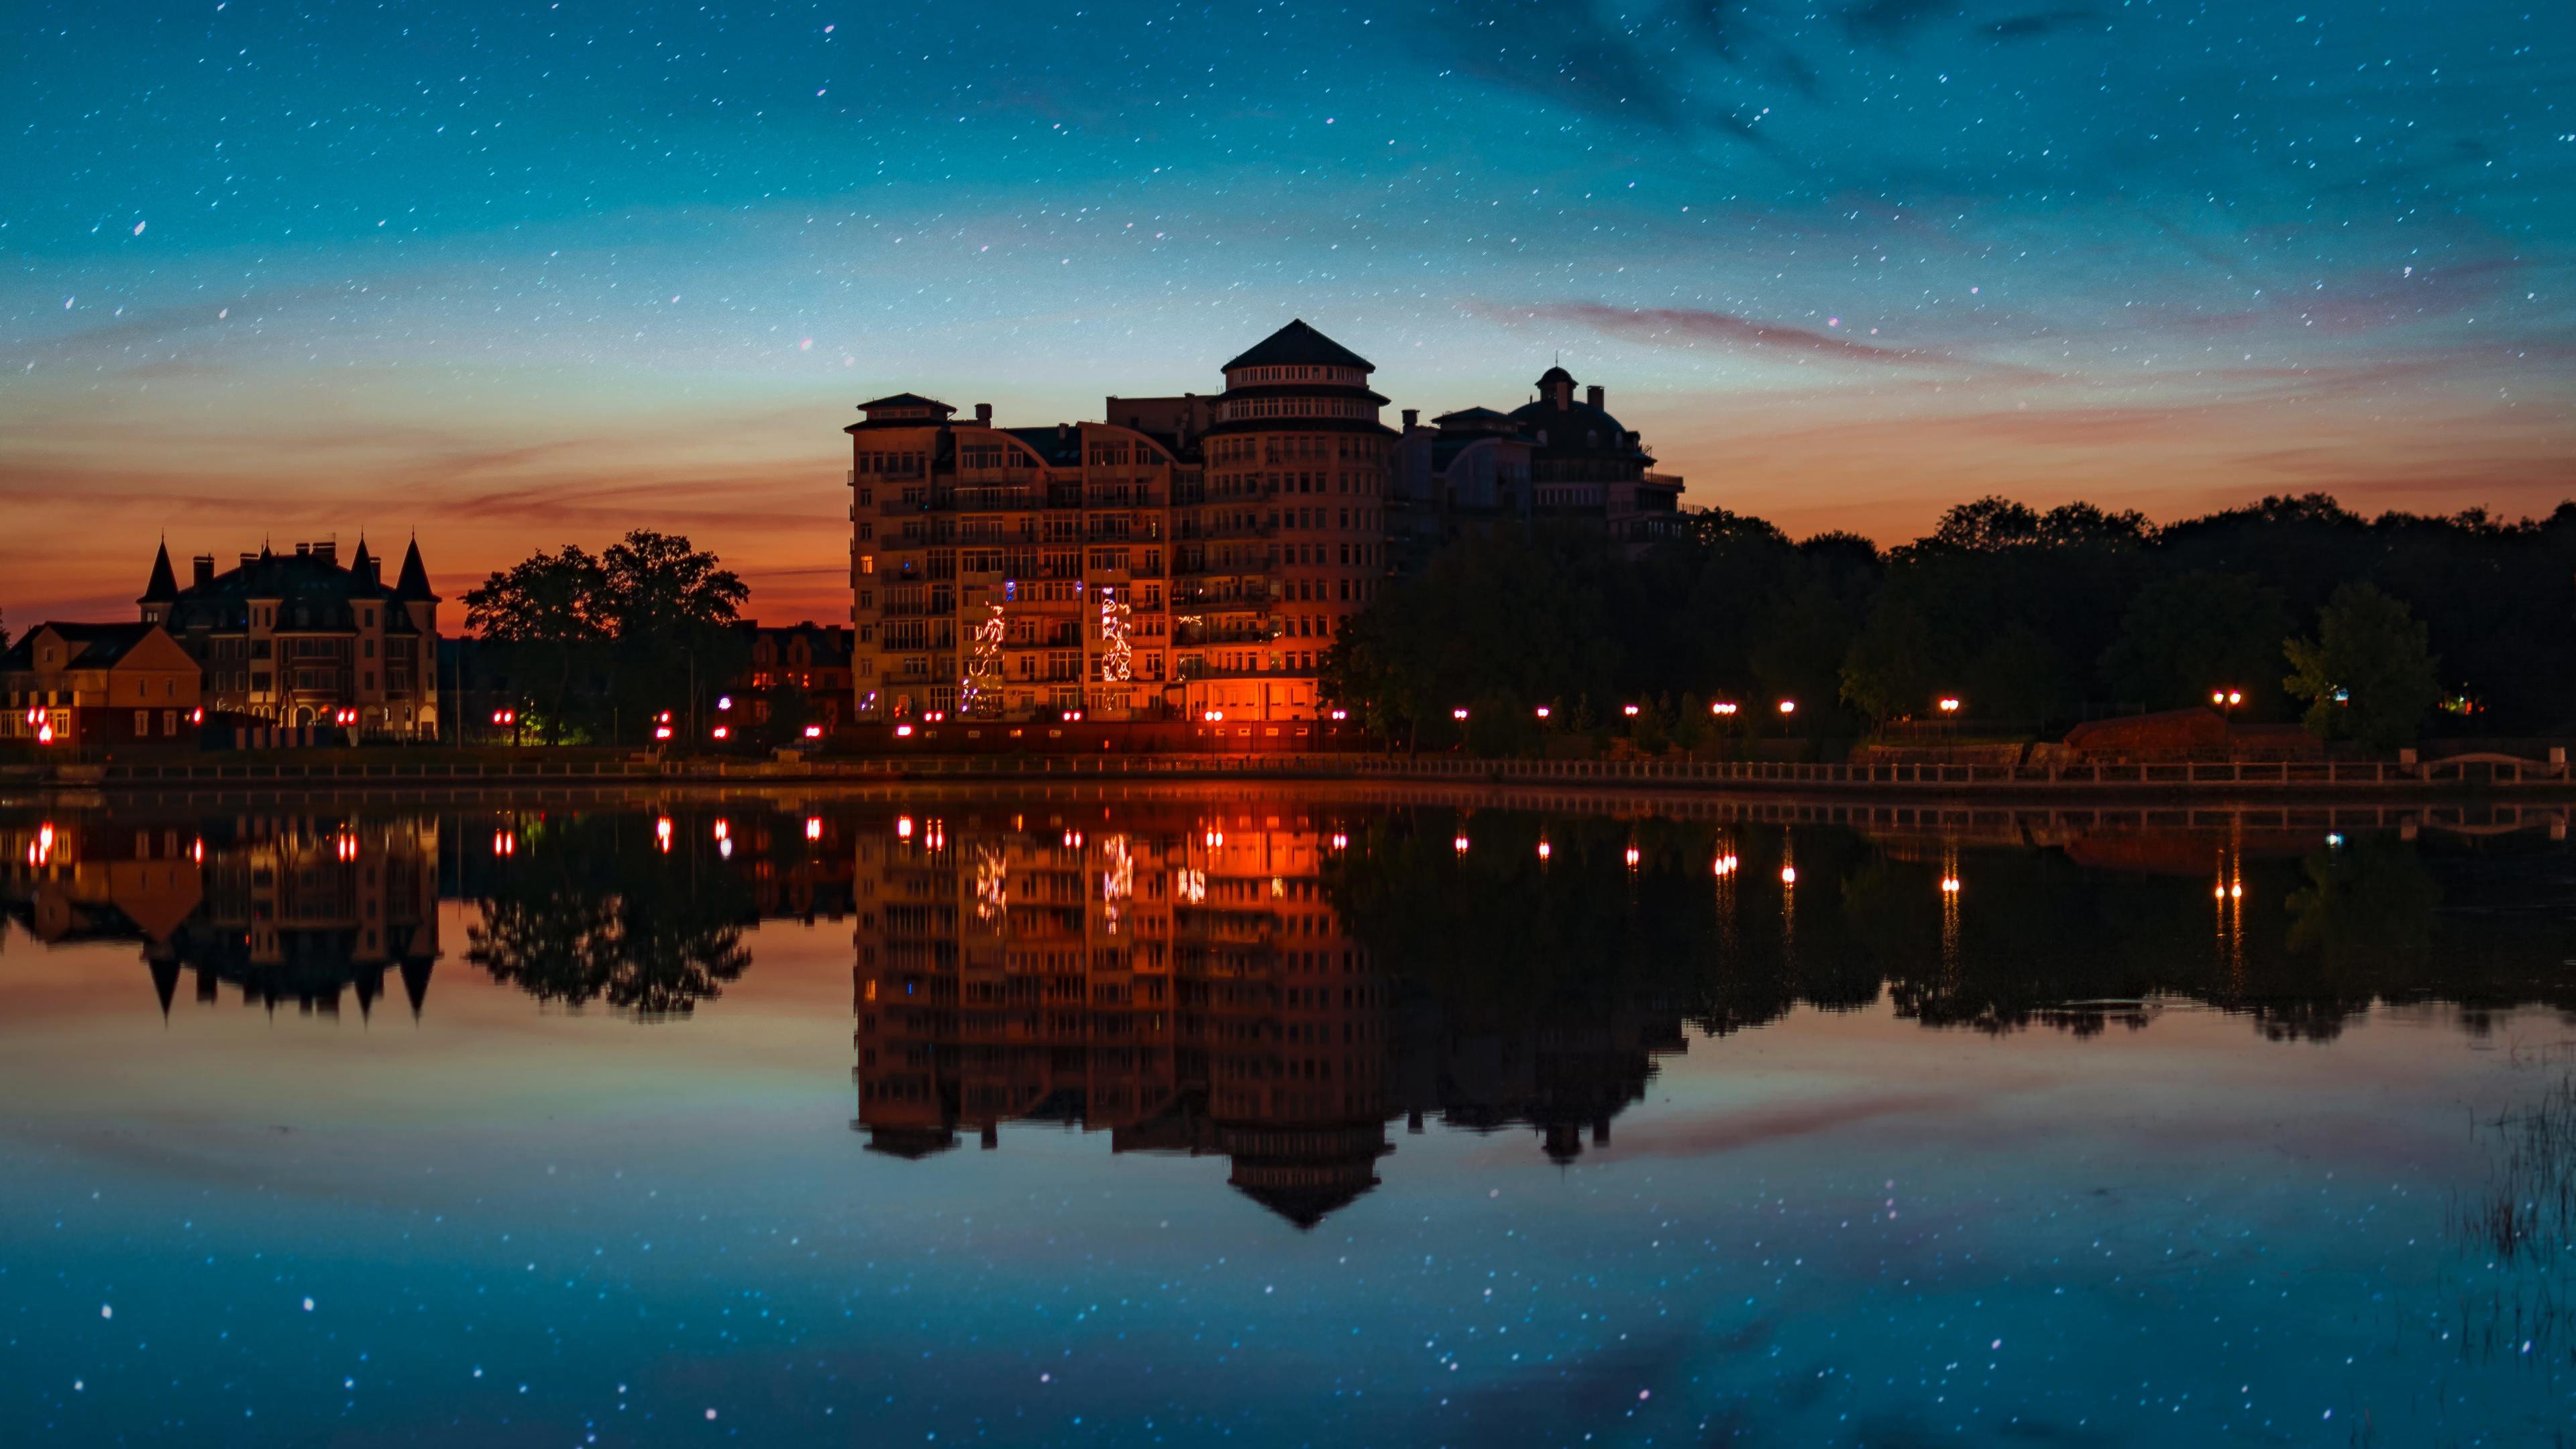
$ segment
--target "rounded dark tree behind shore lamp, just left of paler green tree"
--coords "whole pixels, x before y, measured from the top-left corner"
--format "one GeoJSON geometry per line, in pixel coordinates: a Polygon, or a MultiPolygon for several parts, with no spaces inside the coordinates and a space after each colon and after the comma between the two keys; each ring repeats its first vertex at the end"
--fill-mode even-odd
{"type": "Polygon", "coordinates": [[[2272,696],[2287,632],[2280,590],[2254,575],[2159,578],[2130,598],[2120,639],[2102,655],[2102,678],[2117,699],[2151,709],[2197,704],[2213,688],[2249,691],[2259,701],[2272,696]]]}

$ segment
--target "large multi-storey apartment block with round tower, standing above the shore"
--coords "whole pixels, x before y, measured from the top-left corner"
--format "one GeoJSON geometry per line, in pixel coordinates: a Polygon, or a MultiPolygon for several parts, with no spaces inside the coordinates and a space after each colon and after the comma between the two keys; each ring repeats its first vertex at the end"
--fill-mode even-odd
{"type": "Polygon", "coordinates": [[[1288,322],[1224,392],[1002,428],[899,392],[850,433],[860,722],[1316,719],[1342,621],[1422,549],[1502,518],[1638,544],[1682,480],[1551,369],[1517,413],[1399,433],[1376,364],[1288,322]]]}

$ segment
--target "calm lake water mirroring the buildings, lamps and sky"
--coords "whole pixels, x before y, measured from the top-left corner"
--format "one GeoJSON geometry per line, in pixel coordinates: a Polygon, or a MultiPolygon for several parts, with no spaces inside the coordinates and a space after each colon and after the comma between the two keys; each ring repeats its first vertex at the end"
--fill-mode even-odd
{"type": "Polygon", "coordinates": [[[8,812],[0,908],[0,1444],[2576,1426],[2548,830],[8,812]]]}

